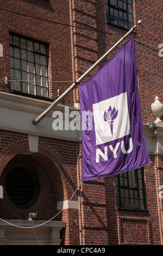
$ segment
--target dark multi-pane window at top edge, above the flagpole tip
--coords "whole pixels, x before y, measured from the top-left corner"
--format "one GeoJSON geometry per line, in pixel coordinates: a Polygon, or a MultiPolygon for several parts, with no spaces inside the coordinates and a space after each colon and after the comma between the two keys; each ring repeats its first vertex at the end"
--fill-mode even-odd
{"type": "Polygon", "coordinates": [[[132,0],[106,0],[106,20],[112,25],[131,29],[133,27],[132,0]]]}

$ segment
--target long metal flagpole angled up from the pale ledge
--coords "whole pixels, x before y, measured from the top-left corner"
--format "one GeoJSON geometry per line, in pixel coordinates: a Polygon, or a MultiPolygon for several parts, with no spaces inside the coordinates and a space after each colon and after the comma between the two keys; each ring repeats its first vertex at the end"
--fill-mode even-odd
{"type": "Polygon", "coordinates": [[[90,74],[90,72],[96,68],[96,66],[102,62],[102,60],[107,57],[109,55],[109,53],[111,53],[119,44],[121,44],[121,42],[127,38],[128,35],[130,35],[133,31],[135,31],[135,29],[137,28],[138,25],[141,25],[142,21],[138,21],[137,25],[135,25],[133,28],[130,29],[130,31],[128,31],[118,42],[116,42],[116,44],[114,46],[112,46],[110,48],[110,50],[108,52],[106,52],[100,59],[97,60],[97,62],[95,64],[93,64],[91,66],[90,69],[88,69],[80,78],[78,78],[78,80],[76,82],[74,82],[72,84],[72,86],[70,86],[62,95],[60,95],[58,97],[57,100],[55,100],[42,114],[39,115],[39,117],[36,118],[35,121],[33,121],[33,124],[37,124],[39,123],[55,106],[58,105],[58,103],[64,99],[64,97],[70,93],[87,75],[90,74]]]}

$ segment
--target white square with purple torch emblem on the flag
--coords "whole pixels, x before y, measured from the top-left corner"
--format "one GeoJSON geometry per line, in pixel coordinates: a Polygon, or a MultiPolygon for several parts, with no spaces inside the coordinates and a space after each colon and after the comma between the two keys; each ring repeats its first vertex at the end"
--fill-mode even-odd
{"type": "Polygon", "coordinates": [[[93,104],[96,145],[129,135],[127,93],[93,104]]]}

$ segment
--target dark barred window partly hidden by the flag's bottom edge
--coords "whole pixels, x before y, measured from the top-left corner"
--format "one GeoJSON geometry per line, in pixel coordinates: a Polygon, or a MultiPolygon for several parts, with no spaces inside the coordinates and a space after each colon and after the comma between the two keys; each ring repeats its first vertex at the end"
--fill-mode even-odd
{"type": "Polygon", "coordinates": [[[116,175],[118,208],[146,209],[143,168],[116,175]]]}

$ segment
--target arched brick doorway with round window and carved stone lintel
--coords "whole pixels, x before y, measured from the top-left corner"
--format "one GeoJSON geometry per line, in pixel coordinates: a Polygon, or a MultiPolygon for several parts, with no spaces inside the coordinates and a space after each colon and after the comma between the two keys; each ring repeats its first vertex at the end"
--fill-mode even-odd
{"type": "MultiPolygon", "coordinates": [[[[4,240],[0,243],[57,245],[62,241],[64,244],[65,236],[69,233],[69,211],[76,208],[78,214],[78,207],[72,205],[71,209],[67,207],[60,211],[76,188],[64,161],[44,143],[39,144],[37,152],[29,151],[28,141],[23,141],[23,147],[21,141],[10,145],[5,149],[1,160],[0,184],[4,188],[4,196],[0,202],[0,217],[18,226],[37,226],[40,223],[40,227],[22,230],[1,221],[0,229],[4,230],[4,240]],[[24,182],[24,188],[16,185],[18,182],[24,182]],[[28,188],[30,193],[27,196],[28,188]],[[14,193],[21,195],[16,196],[14,193]],[[20,202],[21,197],[24,197],[25,203],[20,202]],[[31,212],[37,213],[37,216],[34,221],[29,222],[31,212]],[[48,222],[55,215],[57,216],[48,222]]],[[[73,202],[78,203],[77,200],[78,195],[75,194],[73,202]]],[[[74,218],[75,215],[72,219],[74,218]]]]}

